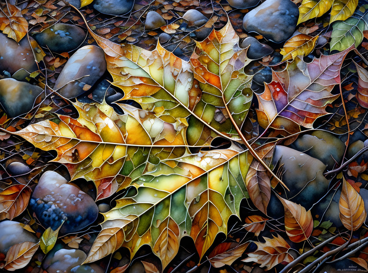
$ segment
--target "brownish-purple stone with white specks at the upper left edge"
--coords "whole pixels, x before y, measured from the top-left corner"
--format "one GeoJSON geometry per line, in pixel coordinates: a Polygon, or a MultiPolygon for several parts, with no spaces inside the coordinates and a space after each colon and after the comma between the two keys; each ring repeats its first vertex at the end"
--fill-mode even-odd
{"type": "Polygon", "coordinates": [[[3,71],[7,71],[13,75],[21,68],[30,73],[38,70],[27,37],[21,39],[18,44],[0,32],[0,73],[3,74],[3,71]]]}

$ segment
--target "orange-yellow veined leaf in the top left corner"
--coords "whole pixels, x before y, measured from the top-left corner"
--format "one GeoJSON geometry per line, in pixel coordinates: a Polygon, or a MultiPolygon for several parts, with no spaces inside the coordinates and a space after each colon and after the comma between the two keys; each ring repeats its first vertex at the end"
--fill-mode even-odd
{"type": "Polygon", "coordinates": [[[0,10],[0,30],[19,42],[28,32],[27,21],[21,11],[11,4],[6,3],[6,7],[0,10]]]}

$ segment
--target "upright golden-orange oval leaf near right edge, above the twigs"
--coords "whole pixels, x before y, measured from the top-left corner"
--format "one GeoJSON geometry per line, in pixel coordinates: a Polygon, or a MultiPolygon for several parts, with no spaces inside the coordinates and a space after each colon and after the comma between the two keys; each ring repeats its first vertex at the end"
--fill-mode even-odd
{"type": "Polygon", "coordinates": [[[367,211],[365,211],[362,197],[350,183],[346,182],[344,177],[339,209],[341,222],[344,227],[352,231],[360,228],[365,218],[367,218],[367,211]]]}

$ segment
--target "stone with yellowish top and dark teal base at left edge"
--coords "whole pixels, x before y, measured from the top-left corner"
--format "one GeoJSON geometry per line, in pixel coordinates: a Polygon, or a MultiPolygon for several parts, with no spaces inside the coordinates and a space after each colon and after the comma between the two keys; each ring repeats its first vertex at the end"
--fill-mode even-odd
{"type": "Polygon", "coordinates": [[[0,80],[0,103],[8,117],[17,117],[33,108],[36,98],[43,92],[39,86],[15,79],[0,80]]]}

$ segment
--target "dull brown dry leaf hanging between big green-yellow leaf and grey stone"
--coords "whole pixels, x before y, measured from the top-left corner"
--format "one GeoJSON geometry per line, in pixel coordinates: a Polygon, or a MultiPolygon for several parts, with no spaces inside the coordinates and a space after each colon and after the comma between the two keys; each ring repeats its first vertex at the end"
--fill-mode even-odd
{"type": "Polygon", "coordinates": [[[267,214],[267,206],[271,197],[270,178],[265,167],[258,161],[252,162],[247,177],[245,178],[248,194],[253,204],[264,214],[267,214]]]}

